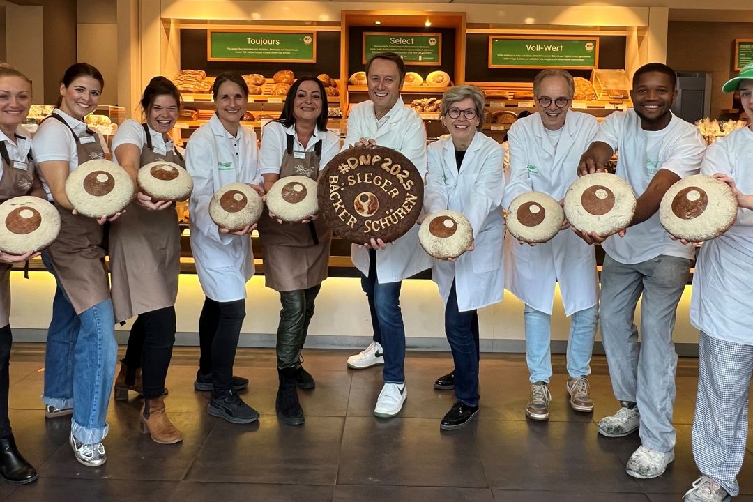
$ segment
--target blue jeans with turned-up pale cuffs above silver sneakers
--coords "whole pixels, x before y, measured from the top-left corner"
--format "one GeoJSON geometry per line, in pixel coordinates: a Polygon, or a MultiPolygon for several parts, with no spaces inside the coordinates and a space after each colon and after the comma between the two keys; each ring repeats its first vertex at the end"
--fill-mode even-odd
{"type": "MultiPolygon", "coordinates": [[[[47,270],[52,260],[42,253],[47,270]]],[[[45,404],[73,408],[71,433],[84,444],[107,436],[107,406],[117,358],[112,301],[104,300],[76,315],[57,280],[44,354],[45,404]]]]}

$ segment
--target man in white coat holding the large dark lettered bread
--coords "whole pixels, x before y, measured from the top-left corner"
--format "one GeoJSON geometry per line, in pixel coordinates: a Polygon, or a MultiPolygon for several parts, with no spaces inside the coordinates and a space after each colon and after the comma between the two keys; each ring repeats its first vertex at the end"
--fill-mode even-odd
{"type": "MultiPolygon", "coordinates": [[[[426,173],[426,130],[419,114],[407,108],[400,96],[405,63],[396,53],[375,54],[366,65],[370,101],[353,106],[348,117],[344,148],[380,145],[410,159],[421,177],[426,173]]],[[[397,415],[407,398],[403,365],[405,327],[400,311],[404,278],[428,269],[431,262],[419,248],[418,225],[395,242],[372,239],[353,245],[351,259],[361,271],[361,287],[369,302],[373,342],[348,359],[348,367],[360,369],[384,364],[384,387],[374,415],[397,415]]]]}

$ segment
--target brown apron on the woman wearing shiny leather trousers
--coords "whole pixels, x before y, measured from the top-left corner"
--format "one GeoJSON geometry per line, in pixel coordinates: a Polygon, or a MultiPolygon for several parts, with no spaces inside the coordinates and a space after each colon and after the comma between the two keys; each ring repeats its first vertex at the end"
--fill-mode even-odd
{"type": "MultiPolygon", "coordinates": [[[[312,152],[293,151],[293,135],[282,154],[280,179],[286,176],[319,177],[322,141],[312,152]]],[[[263,211],[258,225],[264,253],[264,278],[267,288],[297,291],[322,284],[327,278],[332,231],[318,218],[309,224],[279,224],[263,211]]]]}

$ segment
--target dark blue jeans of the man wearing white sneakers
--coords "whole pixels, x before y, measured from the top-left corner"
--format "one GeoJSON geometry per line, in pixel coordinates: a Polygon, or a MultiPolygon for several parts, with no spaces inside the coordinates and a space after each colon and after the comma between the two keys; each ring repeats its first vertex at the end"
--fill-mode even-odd
{"type": "Polygon", "coordinates": [[[384,351],[385,383],[405,382],[405,326],[400,310],[402,281],[380,283],[377,281],[377,251],[369,250],[369,275],[361,275],[361,288],[369,300],[374,341],[384,351]]]}

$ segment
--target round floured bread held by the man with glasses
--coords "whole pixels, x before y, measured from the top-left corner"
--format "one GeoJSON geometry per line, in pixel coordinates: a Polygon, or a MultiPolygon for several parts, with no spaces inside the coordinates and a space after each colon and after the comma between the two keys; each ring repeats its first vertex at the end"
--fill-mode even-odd
{"type": "Polygon", "coordinates": [[[521,193],[508,208],[507,225],[511,236],[531,244],[552,239],[564,220],[562,206],[543,192],[521,193]]]}

